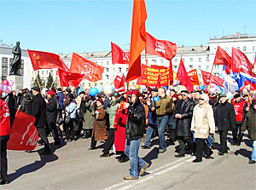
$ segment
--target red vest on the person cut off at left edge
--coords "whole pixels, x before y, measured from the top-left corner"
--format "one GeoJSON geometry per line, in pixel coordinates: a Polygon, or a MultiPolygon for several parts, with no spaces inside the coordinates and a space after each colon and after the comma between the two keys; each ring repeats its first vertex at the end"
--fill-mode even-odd
{"type": "Polygon", "coordinates": [[[10,134],[8,103],[0,99],[0,136],[10,134]]]}

